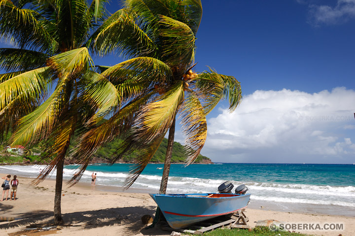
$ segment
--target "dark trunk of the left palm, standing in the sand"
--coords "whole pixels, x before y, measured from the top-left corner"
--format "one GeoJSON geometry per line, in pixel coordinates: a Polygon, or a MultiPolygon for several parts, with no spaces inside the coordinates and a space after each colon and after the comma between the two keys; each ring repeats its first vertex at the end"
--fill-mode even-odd
{"type": "Polygon", "coordinates": [[[63,186],[63,168],[64,158],[57,165],[56,189],[54,197],[54,224],[63,225],[61,201],[62,201],[62,186],[63,186]]]}

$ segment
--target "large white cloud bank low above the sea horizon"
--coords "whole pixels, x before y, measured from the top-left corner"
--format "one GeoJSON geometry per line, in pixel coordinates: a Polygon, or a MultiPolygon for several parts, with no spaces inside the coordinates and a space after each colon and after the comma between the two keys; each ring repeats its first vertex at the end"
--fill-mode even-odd
{"type": "Polygon", "coordinates": [[[257,90],[234,113],[222,109],[208,119],[203,154],[216,162],[337,162],[330,160],[355,154],[354,135],[346,132],[355,122],[354,101],[355,91],[345,88],[257,90]]]}

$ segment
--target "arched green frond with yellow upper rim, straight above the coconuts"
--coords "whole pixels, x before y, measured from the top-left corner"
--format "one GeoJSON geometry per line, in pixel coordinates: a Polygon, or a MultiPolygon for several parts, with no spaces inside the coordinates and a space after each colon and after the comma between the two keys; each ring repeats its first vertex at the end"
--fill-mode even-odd
{"type": "Polygon", "coordinates": [[[195,57],[195,35],[184,23],[160,16],[163,36],[162,57],[168,64],[191,64],[195,57]]]}

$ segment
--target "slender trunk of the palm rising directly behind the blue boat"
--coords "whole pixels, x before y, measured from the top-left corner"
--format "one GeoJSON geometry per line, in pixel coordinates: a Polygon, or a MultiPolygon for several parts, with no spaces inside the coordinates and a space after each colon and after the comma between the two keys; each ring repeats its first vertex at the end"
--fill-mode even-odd
{"type": "Polygon", "coordinates": [[[170,129],[169,129],[168,147],[167,147],[167,153],[165,155],[163,177],[162,177],[162,181],[160,183],[159,194],[166,193],[166,188],[168,185],[168,178],[169,178],[169,171],[170,171],[170,164],[171,164],[171,157],[173,154],[174,135],[175,135],[175,118],[173,120],[172,125],[170,126],[170,129]]]}

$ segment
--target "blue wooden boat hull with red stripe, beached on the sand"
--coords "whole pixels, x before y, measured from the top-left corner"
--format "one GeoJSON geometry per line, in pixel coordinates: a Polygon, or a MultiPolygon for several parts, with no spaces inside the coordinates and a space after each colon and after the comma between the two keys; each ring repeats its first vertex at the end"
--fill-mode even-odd
{"type": "Polygon", "coordinates": [[[247,207],[250,194],[149,194],[173,229],[181,229],[247,207]]]}

